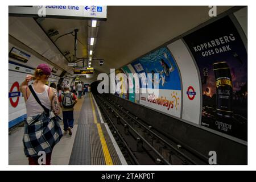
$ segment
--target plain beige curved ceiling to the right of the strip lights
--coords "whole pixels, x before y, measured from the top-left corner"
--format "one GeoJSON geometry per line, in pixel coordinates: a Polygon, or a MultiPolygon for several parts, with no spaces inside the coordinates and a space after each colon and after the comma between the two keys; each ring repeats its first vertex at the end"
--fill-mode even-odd
{"type": "MultiPolygon", "coordinates": [[[[217,6],[220,14],[231,6],[217,6]]],[[[98,68],[110,72],[210,19],[208,6],[109,6],[101,23],[96,57],[98,68]]]]}

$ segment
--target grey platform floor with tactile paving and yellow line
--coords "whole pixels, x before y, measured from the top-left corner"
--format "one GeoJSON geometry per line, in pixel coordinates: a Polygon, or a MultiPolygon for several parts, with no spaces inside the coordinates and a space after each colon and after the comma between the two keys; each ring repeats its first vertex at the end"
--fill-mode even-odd
{"type": "MultiPolygon", "coordinates": [[[[63,135],[53,149],[52,165],[127,164],[91,93],[75,105],[74,119],[72,136],[63,135]]],[[[24,127],[17,127],[9,134],[9,165],[28,164],[23,152],[23,132],[24,127]]]]}

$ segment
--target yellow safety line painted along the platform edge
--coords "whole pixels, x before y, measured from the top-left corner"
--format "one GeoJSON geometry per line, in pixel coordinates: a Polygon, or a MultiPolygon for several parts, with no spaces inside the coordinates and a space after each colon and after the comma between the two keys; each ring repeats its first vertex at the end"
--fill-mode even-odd
{"type": "Polygon", "coordinates": [[[113,165],[112,158],[109,154],[109,148],[108,148],[108,145],[106,144],[106,139],[105,139],[104,134],[103,134],[102,129],[101,129],[101,124],[97,122],[97,117],[96,117],[96,113],[95,113],[91,93],[90,93],[90,104],[92,105],[94,123],[97,124],[98,135],[100,136],[101,147],[102,147],[102,150],[103,150],[106,165],[113,165]]]}

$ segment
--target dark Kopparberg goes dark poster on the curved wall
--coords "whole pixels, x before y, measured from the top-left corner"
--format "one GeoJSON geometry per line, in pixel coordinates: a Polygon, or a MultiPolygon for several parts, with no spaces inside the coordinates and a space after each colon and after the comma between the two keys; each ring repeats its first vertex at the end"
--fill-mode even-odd
{"type": "Polygon", "coordinates": [[[247,52],[225,16],[184,37],[199,67],[201,125],[247,140],[247,52]]]}

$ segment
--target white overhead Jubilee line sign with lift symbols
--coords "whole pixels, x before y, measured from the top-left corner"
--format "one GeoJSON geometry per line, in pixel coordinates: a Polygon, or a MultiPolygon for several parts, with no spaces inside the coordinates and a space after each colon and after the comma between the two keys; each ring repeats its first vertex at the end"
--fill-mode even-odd
{"type": "Polygon", "coordinates": [[[9,6],[10,16],[106,20],[106,6],[9,6]]]}

